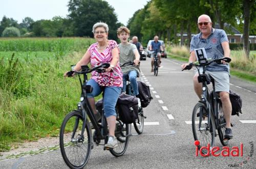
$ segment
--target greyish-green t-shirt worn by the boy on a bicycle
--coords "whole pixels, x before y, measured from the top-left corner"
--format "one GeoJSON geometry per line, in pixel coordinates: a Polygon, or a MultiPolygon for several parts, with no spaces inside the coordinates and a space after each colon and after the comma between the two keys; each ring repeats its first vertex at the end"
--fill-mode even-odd
{"type": "MultiPolygon", "coordinates": [[[[128,43],[127,45],[122,45],[121,43],[118,45],[120,54],[119,54],[119,62],[120,66],[125,62],[133,62],[135,60],[134,50],[137,50],[135,44],[128,43]]],[[[123,74],[129,73],[132,70],[137,71],[137,75],[139,76],[140,69],[138,66],[133,65],[125,65],[121,67],[123,74]]]]}

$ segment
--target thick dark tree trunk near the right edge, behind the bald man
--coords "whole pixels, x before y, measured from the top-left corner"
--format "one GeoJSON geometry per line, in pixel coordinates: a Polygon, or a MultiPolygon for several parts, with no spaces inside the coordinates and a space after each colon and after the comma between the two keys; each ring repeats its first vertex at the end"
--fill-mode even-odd
{"type": "Polygon", "coordinates": [[[244,0],[244,33],[243,33],[243,45],[246,58],[249,59],[250,44],[249,44],[249,27],[250,27],[250,0],[244,0]]]}

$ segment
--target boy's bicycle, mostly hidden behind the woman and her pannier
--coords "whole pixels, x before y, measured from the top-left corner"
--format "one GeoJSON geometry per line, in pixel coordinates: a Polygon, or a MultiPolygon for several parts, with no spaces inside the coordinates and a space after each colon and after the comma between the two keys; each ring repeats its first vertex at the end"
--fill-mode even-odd
{"type": "MultiPolygon", "coordinates": [[[[122,68],[124,65],[134,65],[134,62],[125,62],[120,67],[122,68]]],[[[127,83],[127,85],[126,85],[126,94],[134,96],[132,85],[131,85],[131,82],[129,80],[129,77],[126,78],[126,83],[127,83]]],[[[143,114],[143,108],[141,107],[139,109],[138,119],[136,119],[136,121],[133,123],[134,129],[136,130],[136,132],[138,134],[141,134],[143,132],[143,129],[144,129],[144,118],[146,119],[146,117],[143,114]]]]}

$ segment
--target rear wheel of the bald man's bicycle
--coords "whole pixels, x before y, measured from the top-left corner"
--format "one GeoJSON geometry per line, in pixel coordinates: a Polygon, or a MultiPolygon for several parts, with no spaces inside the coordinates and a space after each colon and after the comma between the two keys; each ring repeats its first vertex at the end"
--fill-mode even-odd
{"type": "Polygon", "coordinates": [[[217,103],[218,104],[218,111],[219,111],[219,128],[218,128],[218,135],[219,135],[219,138],[220,138],[220,141],[221,141],[221,144],[223,146],[227,146],[228,145],[228,142],[229,140],[224,140],[224,133],[225,133],[225,125],[226,125],[226,121],[225,121],[225,118],[224,118],[224,114],[223,114],[223,110],[222,110],[222,105],[221,103],[217,103]]]}

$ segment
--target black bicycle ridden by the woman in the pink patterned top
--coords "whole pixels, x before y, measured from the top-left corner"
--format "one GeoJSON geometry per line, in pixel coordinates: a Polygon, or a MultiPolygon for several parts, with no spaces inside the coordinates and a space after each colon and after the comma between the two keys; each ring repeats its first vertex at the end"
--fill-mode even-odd
{"type": "MultiPolygon", "coordinates": [[[[87,84],[87,74],[92,71],[97,71],[99,73],[104,72],[103,68],[108,68],[110,64],[105,63],[93,69],[89,67],[82,66],[80,72],[75,72],[80,81],[81,86],[81,97],[80,102],[77,104],[77,110],[71,111],[63,120],[60,128],[59,134],[59,145],[61,155],[70,168],[83,168],[90,157],[91,150],[93,149],[93,141],[96,145],[104,145],[108,142],[108,124],[106,123],[106,118],[101,114],[101,123],[96,121],[93,110],[87,98],[87,93],[92,92],[92,87],[87,84]],[[80,77],[83,75],[83,83],[80,77]],[[92,134],[92,128],[89,125],[89,120],[95,131],[92,134]],[[104,144],[100,144],[101,140],[104,140],[104,144]]],[[[72,73],[73,73],[72,72],[72,73]]],[[[69,76],[72,76],[69,74],[69,76]]],[[[118,105],[117,105],[118,106],[118,105]]],[[[118,115],[118,108],[117,115],[118,115]]],[[[104,110],[102,110],[104,111],[104,110]]],[[[117,116],[118,117],[118,116],[117,116]]],[[[118,118],[116,120],[115,136],[118,140],[118,147],[109,150],[111,154],[119,157],[124,154],[129,143],[129,136],[131,130],[131,125],[123,124],[118,118]]]]}

